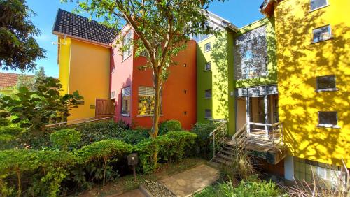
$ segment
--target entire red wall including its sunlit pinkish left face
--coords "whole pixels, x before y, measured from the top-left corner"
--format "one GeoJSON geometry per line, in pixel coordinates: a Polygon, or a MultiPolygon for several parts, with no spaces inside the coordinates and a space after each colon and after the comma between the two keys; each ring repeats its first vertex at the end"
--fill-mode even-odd
{"type": "MultiPolygon", "coordinates": [[[[124,34],[125,30],[122,30],[124,34]]],[[[191,129],[195,124],[196,115],[196,43],[189,41],[186,50],[179,53],[174,61],[176,66],[169,68],[169,78],[163,85],[162,92],[162,116],[160,121],[177,119],[184,129],[191,129]],[[186,64],[186,67],[183,66],[186,64]]],[[[116,116],[117,120],[123,119],[132,126],[152,126],[152,117],[138,116],[139,86],[153,87],[152,71],[140,71],[139,66],[146,63],[144,57],[129,57],[122,62],[122,56],[118,52],[118,46],[114,50],[113,63],[115,71],[111,74],[111,90],[116,90],[116,116]],[[121,89],[132,86],[132,102],[130,117],[121,117],[121,89]]],[[[113,66],[113,65],[111,65],[113,66]]]]}

